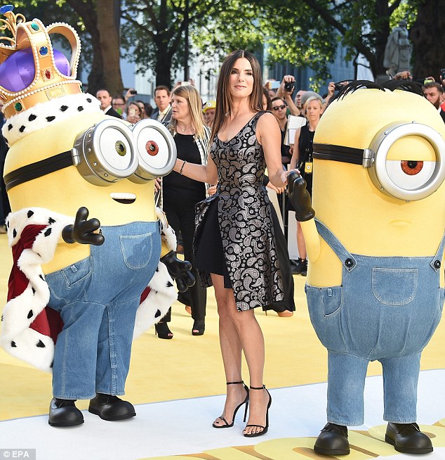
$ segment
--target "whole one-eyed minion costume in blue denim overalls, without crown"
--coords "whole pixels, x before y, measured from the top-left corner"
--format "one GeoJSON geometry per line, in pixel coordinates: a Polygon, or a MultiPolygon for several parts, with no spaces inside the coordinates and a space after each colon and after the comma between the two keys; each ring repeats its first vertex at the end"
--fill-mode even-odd
{"type": "Polygon", "coordinates": [[[352,82],[314,136],[313,209],[289,176],[310,265],[312,325],[328,349],[320,454],[350,453],[364,422],[368,362],[383,367],[385,441],[425,454],[416,424],[420,354],[444,305],[445,125],[412,82],[352,82]],[[315,211],[314,211],[315,210],[315,211]]]}

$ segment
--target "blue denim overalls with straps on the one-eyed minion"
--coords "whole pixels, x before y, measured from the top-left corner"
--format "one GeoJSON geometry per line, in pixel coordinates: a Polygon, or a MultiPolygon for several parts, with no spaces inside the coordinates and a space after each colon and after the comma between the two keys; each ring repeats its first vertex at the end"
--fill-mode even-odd
{"type": "Polygon", "coordinates": [[[420,352],[439,324],[445,235],[431,257],[370,257],[349,253],[324,224],[322,238],[343,263],[342,284],[306,286],[312,325],[328,349],[328,421],[357,426],[364,419],[369,361],[383,366],[384,419],[416,421],[420,352]]]}

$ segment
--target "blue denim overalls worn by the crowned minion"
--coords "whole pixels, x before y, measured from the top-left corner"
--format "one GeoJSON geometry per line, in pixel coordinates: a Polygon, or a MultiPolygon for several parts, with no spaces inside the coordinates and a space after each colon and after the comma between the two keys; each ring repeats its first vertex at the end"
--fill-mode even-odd
{"type": "Polygon", "coordinates": [[[49,306],[64,322],[55,344],[53,396],[124,395],[140,294],[159,263],[159,222],[101,227],[105,243],[46,275],[49,306]]]}

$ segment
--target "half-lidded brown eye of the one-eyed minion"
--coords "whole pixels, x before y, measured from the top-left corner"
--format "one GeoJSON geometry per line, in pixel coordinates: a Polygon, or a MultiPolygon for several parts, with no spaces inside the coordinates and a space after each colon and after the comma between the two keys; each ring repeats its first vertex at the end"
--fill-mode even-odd
{"type": "Polygon", "coordinates": [[[435,168],[435,161],[386,161],[386,171],[389,179],[404,190],[417,190],[425,186],[434,176],[435,168]]]}

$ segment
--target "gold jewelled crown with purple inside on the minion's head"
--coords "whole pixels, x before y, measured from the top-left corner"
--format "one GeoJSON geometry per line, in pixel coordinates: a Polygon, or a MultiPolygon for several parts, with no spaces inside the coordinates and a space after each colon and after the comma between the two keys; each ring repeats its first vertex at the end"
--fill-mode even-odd
{"type": "MultiPolygon", "coordinates": [[[[45,27],[39,19],[26,22],[23,15],[15,15],[12,10],[11,5],[0,8],[0,13],[6,17],[0,19],[0,30],[9,30],[13,35],[13,38],[0,37],[1,41],[9,43],[6,45],[0,41],[0,98],[4,104],[2,110],[6,118],[21,113],[35,106],[36,103],[82,92],[81,82],[76,79],[81,50],[77,32],[65,23],[54,23],[45,27]],[[69,41],[72,51],[69,75],[64,75],[56,66],[50,34],[60,34],[69,41]],[[34,78],[27,87],[20,87],[20,90],[17,87],[11,89],[11,84],[9,86],[6,84],[5,77],[10,77],[9,79],[20,77],[18,77],[18,68],[15,65],[8,66],[6,60],[14,53],[29,49],[32,50],[34,61],[34,78]],[[11,72],[16,75],[12,75],[11,72]]],[[[29,61],[26,65],[32,65],[30,56],[23,60],[29,61]]],[[[29,72],[29,69],[26,71],[29,72]]]]}

